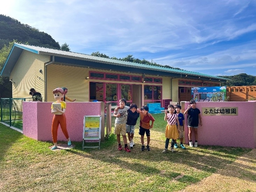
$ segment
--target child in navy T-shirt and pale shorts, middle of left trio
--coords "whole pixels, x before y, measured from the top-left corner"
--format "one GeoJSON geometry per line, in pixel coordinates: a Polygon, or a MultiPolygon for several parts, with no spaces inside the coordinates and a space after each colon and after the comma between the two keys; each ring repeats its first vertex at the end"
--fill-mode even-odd
{"type": "Polygon", "coordinates": [[[126,122],[126,132],[128,133],[128,139],[130,142],[130,148],[133,148],[135,145],[133,142],[134,129],[137,123],[137,119],[140,114],[138,112],[138,107],[136,104],[131,104],[130,108],[127,110],[127,122],[126,122]]]}

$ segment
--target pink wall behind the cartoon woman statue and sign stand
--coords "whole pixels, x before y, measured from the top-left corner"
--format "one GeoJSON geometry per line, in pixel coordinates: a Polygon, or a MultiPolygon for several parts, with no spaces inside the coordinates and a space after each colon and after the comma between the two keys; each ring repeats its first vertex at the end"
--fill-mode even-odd
{"type": "MultiPolygon", "coordinates": [[[[23,134],[40,141],[52,141],[52,102],[23,101],[23,134]]],[[[65,112],[67,130],[71,141],[83,141],[83,118],[85,115],[101,115],[101,140],[104,140],[104,103],[67,102],[65,112]]],[[[66,141],[59,126],[58,141],[66,141]]]]}

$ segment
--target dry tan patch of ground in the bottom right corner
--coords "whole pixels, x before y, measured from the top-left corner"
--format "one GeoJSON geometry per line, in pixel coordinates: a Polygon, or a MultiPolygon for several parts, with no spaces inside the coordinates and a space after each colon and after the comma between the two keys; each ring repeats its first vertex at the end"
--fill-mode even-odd
{"type": "Polygon", "coordinates": [[[256,191],[256,149],[180,192],[256,191]]]}

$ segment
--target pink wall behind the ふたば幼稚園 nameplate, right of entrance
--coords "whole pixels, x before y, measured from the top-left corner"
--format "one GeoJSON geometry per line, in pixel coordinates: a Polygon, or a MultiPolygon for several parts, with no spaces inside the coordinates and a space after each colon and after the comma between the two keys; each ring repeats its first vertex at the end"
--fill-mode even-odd
{"type": "MultiPolygon", "coordinates": [[[[182,101],[182,113],[189,102],[182,101]]],[[[198,145],[256,147],[256,102],[197,102],[203,126],[198,129],[198,145]],[[203,116],[202,107],[238,107],[238,116],[203,116]]],[[[187,115],[185,143],[188,144],[187,115]]],[[[192,141],[195,142],[192,134],[192,141]]]]}

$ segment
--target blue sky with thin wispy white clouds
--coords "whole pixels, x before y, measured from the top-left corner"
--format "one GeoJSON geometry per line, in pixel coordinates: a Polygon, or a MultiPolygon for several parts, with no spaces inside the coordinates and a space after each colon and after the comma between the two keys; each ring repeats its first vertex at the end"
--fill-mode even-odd
{"type": "Polygon", "coordinates": [[[256,0],[8,0],[0,14],[73,52],[256,76],[256,0]]]}

